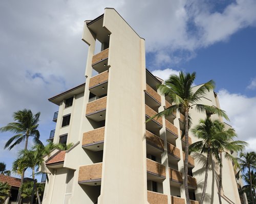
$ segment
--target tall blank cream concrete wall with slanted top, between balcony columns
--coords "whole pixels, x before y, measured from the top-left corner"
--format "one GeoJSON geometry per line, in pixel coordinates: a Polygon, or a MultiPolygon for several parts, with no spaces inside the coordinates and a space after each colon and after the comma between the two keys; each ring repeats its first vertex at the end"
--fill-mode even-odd
{"type": "Polygon", "coordinates": [[[98,203],[147,203],[144,40],[114,9],[105,9],[103,26],[111,67],[98,203]]]}

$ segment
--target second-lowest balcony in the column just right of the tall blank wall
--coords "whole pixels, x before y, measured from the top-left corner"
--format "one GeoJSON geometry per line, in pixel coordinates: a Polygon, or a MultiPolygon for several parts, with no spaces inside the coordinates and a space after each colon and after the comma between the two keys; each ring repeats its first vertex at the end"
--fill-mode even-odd
{"type": "Polygon", "coordinates": [[[147,180],[162,182],[165,177],[165,166],[150,159],[146,159],[147,180]]]}

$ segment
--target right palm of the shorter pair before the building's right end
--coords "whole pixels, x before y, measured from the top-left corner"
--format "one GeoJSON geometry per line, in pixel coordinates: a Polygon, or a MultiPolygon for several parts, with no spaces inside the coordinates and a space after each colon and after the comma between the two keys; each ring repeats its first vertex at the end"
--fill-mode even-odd
{"type": "Polygon", "coordinates": [[[217,160],[219,162],[219,188],[218,188],[218,195],[219,195],[219,202],[221,201],[221,190],[222,190],[222,160],[223,160],[223,154],[224,157],[230,161],[232,161],[235,165],[238,165],[237,158],[234,158],[231,156],[230,152],[235,151],[242,151],[245,146],[247,145],[247,142],[241,141],[241,140],[233,140],[237,135],[234,131],[234,129],[229,128],[225,129],[224,123],[220,122],[217,123],[215,131],[216,134],[216,140],[215,140],[215,151],[218,151],[219,154],[217,157],[217,160]]]}

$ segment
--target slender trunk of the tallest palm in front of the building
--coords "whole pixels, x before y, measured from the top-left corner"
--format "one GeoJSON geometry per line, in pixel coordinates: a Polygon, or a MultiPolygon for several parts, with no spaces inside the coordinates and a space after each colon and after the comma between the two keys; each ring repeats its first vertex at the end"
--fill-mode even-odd
{"type": "Polygon", "coordinates": [[[185,161],[184,161],[184,188],[186,203],[190,204],[189,193],[188,193],[188,184],[187,184],[187,175],[188,175],[188,110],[185,111],[185,161]]]}

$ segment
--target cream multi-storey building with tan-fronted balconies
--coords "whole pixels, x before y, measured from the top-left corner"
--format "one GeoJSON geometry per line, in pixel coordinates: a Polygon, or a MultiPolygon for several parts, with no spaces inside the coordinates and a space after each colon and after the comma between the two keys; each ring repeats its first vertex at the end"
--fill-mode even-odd
{"type": "MultiPolygon", "coordinates": [[[[172,101],[160,95],[162,81],[145,68],[145,46],[114,10],[84,22],[82,40],[89,45],[86,83],[49,100],[54,114],[54,149],[40,170],[48,175],[42,203],[185,203],[183,187],[184,116],[145,120],[172,101]],[[101,52],[95,53],[96,39],[101,52]],[[96,73],[96,74],[93,74],[96,73]]],[[[196,87],[195,87],[196,89],[196,87]]],[[[203,103],[219,107],[209,92],[203,103]]],[[[205,117],[192,112],[193,121],[205,117]]],[[[190,136],[189,142],[196,141],[190,136]]],[[[232,164],[224,162],[223,203],[240,203],[232,164]]],[[[191,203],[199,203],[204,175],[198,159],[189,156],[191,203]]],[[[218,203],[216,172],[209,172],[207,202],[218,203]],[[209,196],[211,195],[211,197],[209,196]]]]}

